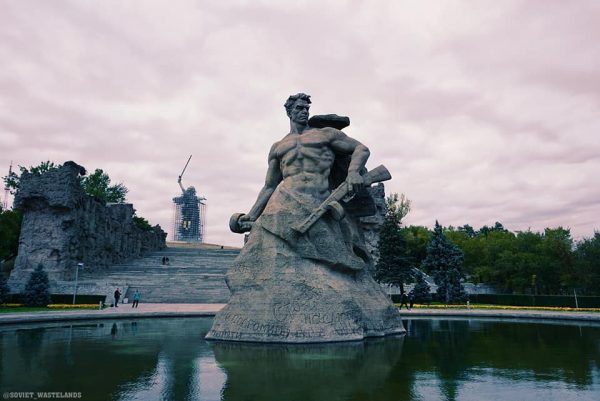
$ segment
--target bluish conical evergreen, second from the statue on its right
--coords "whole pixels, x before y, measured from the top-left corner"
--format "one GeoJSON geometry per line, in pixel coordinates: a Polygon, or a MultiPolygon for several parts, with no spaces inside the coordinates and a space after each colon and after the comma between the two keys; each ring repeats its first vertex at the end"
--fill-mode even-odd
{"type": "Polygon", "coordinates": [[[442,226],[436,221],[421,268],[433,275],[441,302],[450,304],[466,300],[467,294],[460,282],[463,261],[463,252],[446,238],[442,226]]]}

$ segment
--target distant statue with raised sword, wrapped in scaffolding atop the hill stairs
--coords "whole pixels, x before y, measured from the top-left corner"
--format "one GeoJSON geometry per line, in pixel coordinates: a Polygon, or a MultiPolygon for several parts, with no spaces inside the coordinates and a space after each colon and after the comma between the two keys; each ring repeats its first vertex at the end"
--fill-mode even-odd
{"type": "Polygon", "coordinates": [[[204,242],[206,223],[206,198],[196,195],[196,188],[184,188],[183,173],[190,163],[190,155],[177,183],[181,196],[173,198],[173,240],[182,242],[204,242]]]}

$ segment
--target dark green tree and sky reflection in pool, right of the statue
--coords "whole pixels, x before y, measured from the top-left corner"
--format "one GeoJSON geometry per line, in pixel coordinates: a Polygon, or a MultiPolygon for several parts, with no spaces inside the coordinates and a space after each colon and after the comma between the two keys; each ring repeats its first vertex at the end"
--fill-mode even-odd
{"type": "Polygon", "coordinates": [[[597,400],[598,325],[470,320],[407,322],[405,357],[422,399],[597,400]]]}

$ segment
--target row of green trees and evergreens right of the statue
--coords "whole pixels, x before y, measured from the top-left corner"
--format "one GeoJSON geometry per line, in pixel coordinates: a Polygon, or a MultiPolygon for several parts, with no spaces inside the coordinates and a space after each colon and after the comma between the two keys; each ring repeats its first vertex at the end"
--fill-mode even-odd
{"type": "Polygon", "coordinates": [[[403,195],[392,194],[387,206],[375,278],[401,292],[404,284],[420,281],[420,269],[442,285],[442,301],[463,297],[461,280],[488,284],[500,293],[600,295],[600,232],[575,240],[563,227],[512,232],[500,222],[478,230],[436,222],[430,230],[402,224],[410,210],[403,195]]]}

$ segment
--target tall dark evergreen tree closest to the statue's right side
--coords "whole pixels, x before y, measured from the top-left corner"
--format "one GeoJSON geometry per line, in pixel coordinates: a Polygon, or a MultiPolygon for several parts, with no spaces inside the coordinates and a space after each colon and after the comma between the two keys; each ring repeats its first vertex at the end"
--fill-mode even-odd
{"type": "Polygon", "coordinates": [[[379,233],[379,260],[375,266],[374,278],[380,283],[400,288],[404,293],[404,284],[413,280],[413,263],[406,255],[406,241],[400,225],[402,218],[410,210],[410,201],[397,194],[387,198],[387,213],[379,233]]]}

